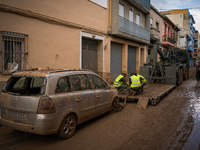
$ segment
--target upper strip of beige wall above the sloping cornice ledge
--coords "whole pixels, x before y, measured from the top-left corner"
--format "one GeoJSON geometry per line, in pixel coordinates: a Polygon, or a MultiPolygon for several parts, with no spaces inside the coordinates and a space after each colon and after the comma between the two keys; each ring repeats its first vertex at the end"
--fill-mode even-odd
{"type": "Polygon", "coordinates": [[[89,0],[0,0],[0,3],[84,24],[87,27],[107,30],[107,9],[89,0]]]}

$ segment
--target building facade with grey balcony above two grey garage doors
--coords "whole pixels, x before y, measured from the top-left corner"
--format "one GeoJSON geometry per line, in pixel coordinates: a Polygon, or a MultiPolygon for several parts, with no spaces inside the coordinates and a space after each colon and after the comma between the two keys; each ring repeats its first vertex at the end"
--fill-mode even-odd
{"type": "Polygon", "coordinates": [[[139,73],[146,63],[150,43],[150,0],[110,0],[108,33],[110,36],[111,82],[121,73],[139,73]]]}

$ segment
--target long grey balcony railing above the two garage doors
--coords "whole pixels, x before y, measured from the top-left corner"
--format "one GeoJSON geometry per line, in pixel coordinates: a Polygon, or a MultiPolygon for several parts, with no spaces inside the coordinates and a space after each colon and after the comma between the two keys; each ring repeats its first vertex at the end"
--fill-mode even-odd
{"type": "Polygon", "coordinates": [[[119,30],[148,41],[150,40],[150,31],[121,16],[119,16],[119,30]]]}

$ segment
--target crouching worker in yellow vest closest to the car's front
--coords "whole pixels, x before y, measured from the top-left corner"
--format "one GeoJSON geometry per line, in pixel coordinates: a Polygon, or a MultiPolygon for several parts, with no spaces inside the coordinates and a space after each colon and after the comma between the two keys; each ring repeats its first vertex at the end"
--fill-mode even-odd
{"type": "Polygon", "coordinates": [[[122,92],[128,88],[125,77],[126,73],[122,73],[114,81],[114,87],[117,89],[118,92],[122,92]]]}

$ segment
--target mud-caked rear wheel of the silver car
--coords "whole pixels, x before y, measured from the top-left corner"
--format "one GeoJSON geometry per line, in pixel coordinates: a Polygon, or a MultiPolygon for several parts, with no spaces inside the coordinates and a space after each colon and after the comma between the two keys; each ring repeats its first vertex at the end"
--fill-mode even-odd
{"type": "Polygon", "coordinates": [[[58,137],[68,139],[72,137],[76,130],[76,117],[74,114],[68,114],[60,125],[58,137]]]}

